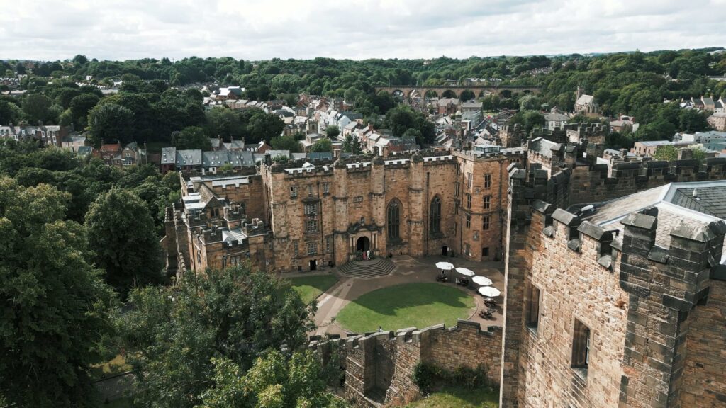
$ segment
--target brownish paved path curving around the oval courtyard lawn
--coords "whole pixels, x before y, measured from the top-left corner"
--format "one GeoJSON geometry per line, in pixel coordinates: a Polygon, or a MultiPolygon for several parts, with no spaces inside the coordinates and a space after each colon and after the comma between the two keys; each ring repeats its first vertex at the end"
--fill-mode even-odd
{"type": "MultiPolygon", "coordinates": [[[[502,296],[497,299],[499,303],[502,303],[504,296],[504,266],[501,262],[475,262],[465,261],[460,258],[447,258],[444,256],[428,256],[425,258],[411,258],[410,256],[395,256],[392,258],[394,264],[396,264],[396,270],[391,274],[383,277],[373,277],[368,279],[346,277],[341,275],[337,269],[333,268],[330,273],[336,274],[340,280],[338,283],[330,287],[325,293],[322,293],[318,298],[318,311],[315,315],[315,325],[317,329],[310,334],[315,335],[342,335],[343,337],[348,333],[342,327],[335,324],[335,316],[338,314],[340,309],[343,309],[348,303],[359,298],[360,295],[368,293],[372,290],[380,289],[382,287],[389,287],[393,285],[402,285],[404,283],[412,282],[436,282],[436,274],[439,270],[436,269],[436,262],[449,261],[455,266],[462,266],[471,269],[476,274],[488,277],[492,280],[492,286],[499,290],[502,290],[502,296]]],[[[449,272],[452,277],[458,274],[454,271],[449,272]]],[[[298,272],[294,276],[301,276],[298,272]]],[[[289,277],[293,277],[290,275],[289,277]]],[[[469,319],[473,322],[479,322],[482,327],[487,326],[502,326],[504,323],[504,317],[502,315],[502,307],[497,307],[497,311],[494,313],[492,319],[482,319],[478,316],[478,311],[486,309],[484,306],[483,298],[476,294],[478,285],[470,285],[470,287],[460,287],[453,283],[438,283],[439,285],[452,285],[459,288],[467,293],[470,293],[475,299],[476,309],[470,311],[469,319]]]]}

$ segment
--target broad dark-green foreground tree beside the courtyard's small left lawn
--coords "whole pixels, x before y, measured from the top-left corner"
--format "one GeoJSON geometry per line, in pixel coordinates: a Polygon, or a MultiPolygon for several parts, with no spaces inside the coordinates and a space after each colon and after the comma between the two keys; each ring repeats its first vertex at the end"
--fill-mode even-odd
{"type": "Polygon", "coordinates": [[[213,357],[234,363],[242,375],[266,350],[283,344],[301,350],[314,328],[314,305],[248,265],[187,273],[174,287],[134,290],[129,305],[120,332],[136,376],[136,401],[144,407],[190,408],[207,393],[219,396],[212,389],[213,357]]]}

